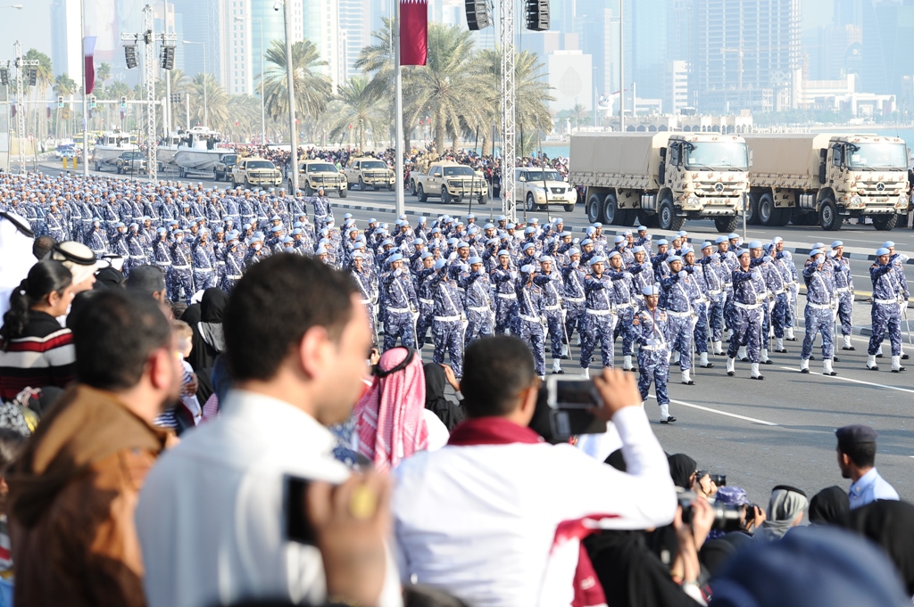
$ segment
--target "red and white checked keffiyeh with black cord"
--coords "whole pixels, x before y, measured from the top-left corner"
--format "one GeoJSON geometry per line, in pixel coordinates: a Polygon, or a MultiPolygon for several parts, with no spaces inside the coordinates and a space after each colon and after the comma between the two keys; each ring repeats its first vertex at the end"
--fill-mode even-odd
{"type": "MultiPolygon", "coordinates": [[[[377,366],[390,370],[403,362],[409,351],[394,348],[384,352],[377,366]]],[[[388,470],[404,457],[423,451],[429,445],[429,429],[423,418],[425,373],[417,354],[398,372],[375,377],[368,392],[356,403],[356,450],[388,470]]]]}

